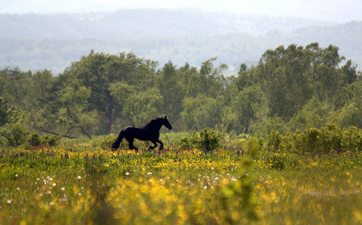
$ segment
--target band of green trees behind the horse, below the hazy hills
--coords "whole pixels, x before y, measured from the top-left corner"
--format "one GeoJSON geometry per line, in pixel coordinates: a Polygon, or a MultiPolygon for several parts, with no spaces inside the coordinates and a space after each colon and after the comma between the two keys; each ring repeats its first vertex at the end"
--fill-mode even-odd
{"type": "Polygon", "coordinates": [[[253,67],[241,64],[237,76],[224,76],[228,66],[215,61],[156,69],[133,53],[92,51],[58,76],[8,68],[0,71],[0,95],[8,99],[1,108],[17,106],[29,127],[67,137],[117,133],[164,115],[174,131],[209,127],[233,135],[328,122],[362,128],[361,72],[337,46],[279,46],[253,67]]]}

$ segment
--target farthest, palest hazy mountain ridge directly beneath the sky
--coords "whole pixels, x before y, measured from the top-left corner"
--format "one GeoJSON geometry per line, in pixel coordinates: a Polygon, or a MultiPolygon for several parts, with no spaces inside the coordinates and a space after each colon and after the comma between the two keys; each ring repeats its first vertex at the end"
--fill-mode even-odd
{"type": "Polygon", "coordinates": [[[116,38],[184,34],[290,32],[331,22],[237,16],[198,9],[120,9],[115,12],[0,14],[0,38],[116,38]]]}

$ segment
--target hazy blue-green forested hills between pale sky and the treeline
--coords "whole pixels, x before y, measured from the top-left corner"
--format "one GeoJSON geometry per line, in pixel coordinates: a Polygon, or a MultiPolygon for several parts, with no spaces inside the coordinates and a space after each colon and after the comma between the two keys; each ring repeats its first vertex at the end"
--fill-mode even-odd
{"type": "Polygon", "coordinates": [[[318,42],[362,64],[362,22],[333,24],[301,18],[237,16],[201,10],[135,9],[113,13],[0,14],[0,69],[63,73],[81,55],[134,52],[162,65],[200,67],[218,57],[227,75],[241,63],[257,65],[263,52],[318,42]]]}

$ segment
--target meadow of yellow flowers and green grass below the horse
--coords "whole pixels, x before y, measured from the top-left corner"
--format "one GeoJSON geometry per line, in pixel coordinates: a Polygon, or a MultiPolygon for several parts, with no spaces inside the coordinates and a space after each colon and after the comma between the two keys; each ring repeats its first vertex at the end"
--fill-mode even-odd
{"type": "Polygon", "coordinates": [[[362,154],[0,154],[0,224],[362,224],[362,154]]]}

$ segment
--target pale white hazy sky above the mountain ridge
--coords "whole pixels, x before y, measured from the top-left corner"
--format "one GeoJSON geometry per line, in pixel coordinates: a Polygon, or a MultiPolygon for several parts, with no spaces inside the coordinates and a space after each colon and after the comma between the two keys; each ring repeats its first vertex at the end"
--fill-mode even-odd
{"type": "Polygon", "coordinates": [[[362,20],[362,0],[0,0],[1,13],[94,12],[129,8],[198,8],[332,22],[362,20]]]}

